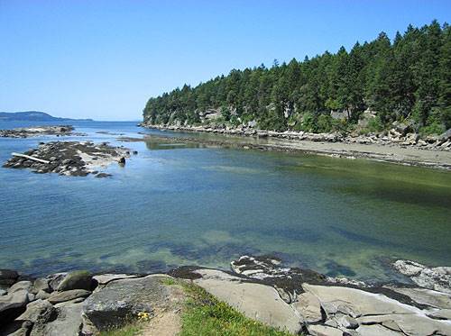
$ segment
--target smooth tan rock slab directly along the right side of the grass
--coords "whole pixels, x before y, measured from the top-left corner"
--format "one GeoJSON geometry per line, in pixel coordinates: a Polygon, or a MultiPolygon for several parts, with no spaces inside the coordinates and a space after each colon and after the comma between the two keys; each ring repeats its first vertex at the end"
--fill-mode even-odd
{"type": "Polygon", "coordinates": [[[198,269],[196,273],[202,276],[194,280],[198,286],[247,317],[292,333],[300,331],[301,316],[272,286],[243,282],[219,270],[198,269]]]}

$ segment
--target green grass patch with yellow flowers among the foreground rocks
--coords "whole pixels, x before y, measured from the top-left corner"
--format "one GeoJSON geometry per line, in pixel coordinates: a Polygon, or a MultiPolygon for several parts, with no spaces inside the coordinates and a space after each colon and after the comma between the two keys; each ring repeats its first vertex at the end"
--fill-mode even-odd
{"type": "Polygon", "coordinates": [[[261,322],[256,322],[238,313],[230,305],[209,295],[199,286],[182,285],[189,296],[182,313],[180,336],[289,336],[261,322]]]}

